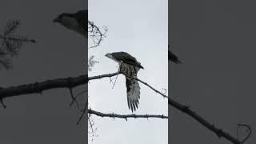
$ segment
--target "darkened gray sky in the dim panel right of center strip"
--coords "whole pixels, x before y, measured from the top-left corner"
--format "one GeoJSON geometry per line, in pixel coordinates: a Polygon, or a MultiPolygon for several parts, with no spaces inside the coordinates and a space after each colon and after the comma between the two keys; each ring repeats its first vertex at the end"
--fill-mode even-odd
{"type": "MultiPolygon", "coordinates": [[[[236,134],[249,124],[255,143],[256,3],[172,0],[170,40],[182,65],[169,65],[171,97],[236,134]]],[[[170,109],[171,143],[230,143],[170,109]]],[[[244,135],[245,133],[242,132],[244,135]]]]}

